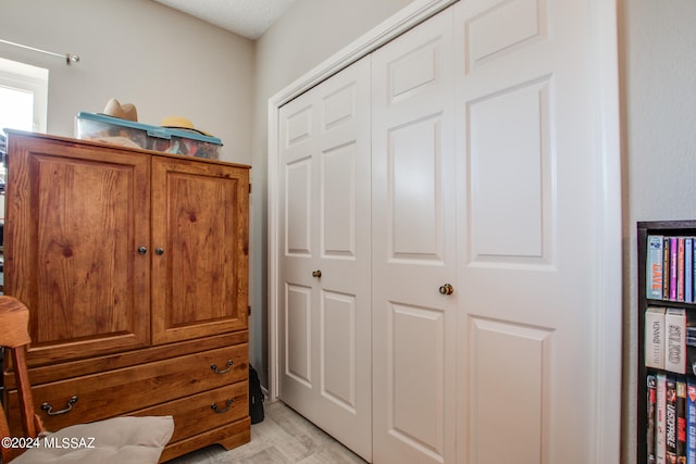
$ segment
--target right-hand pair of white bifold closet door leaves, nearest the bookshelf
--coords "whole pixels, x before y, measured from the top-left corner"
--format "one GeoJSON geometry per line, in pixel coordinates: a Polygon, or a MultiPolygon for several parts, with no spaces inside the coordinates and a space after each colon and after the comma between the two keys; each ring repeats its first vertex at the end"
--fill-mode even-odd
{"type": "Polygon", "coordinates": [[[372,55],[376,463],[586,464],[619,423],[591,11],[460,1],[372,55]]]}

